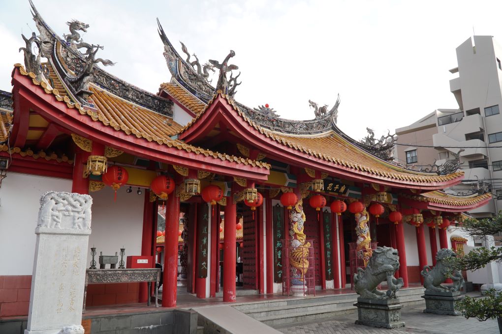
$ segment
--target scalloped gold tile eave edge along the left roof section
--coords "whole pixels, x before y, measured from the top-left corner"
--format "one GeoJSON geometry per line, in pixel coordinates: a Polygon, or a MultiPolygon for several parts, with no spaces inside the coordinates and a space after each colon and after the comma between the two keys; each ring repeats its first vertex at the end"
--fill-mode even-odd
{"type": "Polygon", "coordinates": [[[61,97],[59,94],[59,92],[56,90],[56,89],[52,89],[50,88],[49,86],[47,86],[47,84],[45,82],[42,82],[40,83],[39,81],[37,81],[35,79],[35,74],[34,73],[27,73],[24,69],[24,67],[21,65],[21,64],[15,64],[14,65],[16,68],[18,68],[19,72],[21,75],[24,75],[24,76],[29,76],[31,79],[32,79],[32,82],[35,86],[40,86],[44,89],[44,92],[46,94],[53,94],[56,98],[57,101],[60,101],[62,103],[66,103],[66,106],[70,109],[72,108],[75,108],[78,110],[78,112],[81,114],[81,115],[87,115],[87,116],[90,116],[91,119],[93,121],[100,121],[103,125],[105,126],[111,126],[113,127],[115,130],[117,131],[122,131],[128,135],[130,134],[134,134],[136,137],[138,138],[145,138],[146,140],[148,141],[155,141],[157,142],[157,144],[159,145],[166,145],[168,147],[176,147],[177,149],[179,150],[185,150],[186,152],[193,152],[195,154],[203,154],[205,155],[206,157],[208,156],[212,156],[213,158],[216,158],[216,159],[220,159],[222,161],[225,161],[225,160],[228,160],[230,162],[235,162],[237,164],[244,164],[244,165],[252,165],[253,167],[260,167],[260,168],[266,168],[266,169],[270,169],[270,164],[268,163],[265,163],[265,162],[260,162],[260,161],[256,161],[256,160],[251,160],[251,159],[244,159],[244,158],[241,158],[241,157],[237,157],[237,156],[234,156],[234,155],[228,155],[228,154],[225,154],[225,153],[219,153],[219,152],[213,152],[211,150],[206,150],[206,149],[203,149],[201,147],[195,147],[195,146],[192,146],[192,145],[189,145],[181,140],[173,140],[171,138],[161,138],[159,136],[156,136],[156,135],[149,135],[145,132],[136,132],[136,133],[132,133],[131,131],[127,131],[127,129],[122,129],[120,126],[118,126],[115,122],[106,122],[104,121],[104,119],[102,117],[100,117],[101,115],[97,115],[96,111],[93,111],[91,110],[90,108],[83,108],[80,103],[76,102],[76,103],[73,103],[70,101],[70,99],[65,96],[65,97],[61,97]]]}

